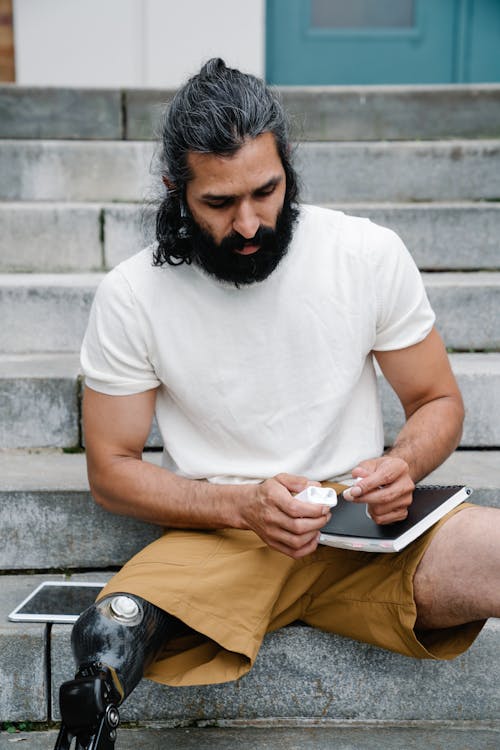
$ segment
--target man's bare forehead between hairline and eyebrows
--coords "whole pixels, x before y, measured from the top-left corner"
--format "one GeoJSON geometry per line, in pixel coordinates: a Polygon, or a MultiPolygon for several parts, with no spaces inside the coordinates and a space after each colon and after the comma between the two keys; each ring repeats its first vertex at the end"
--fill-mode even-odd
{"type": "Polygon", "coordinates": [[[231,156],[190,152],[187,162],[189,189],[196,193],[240,194],[284,174],[272,133],[249,138],[231,156]]]}

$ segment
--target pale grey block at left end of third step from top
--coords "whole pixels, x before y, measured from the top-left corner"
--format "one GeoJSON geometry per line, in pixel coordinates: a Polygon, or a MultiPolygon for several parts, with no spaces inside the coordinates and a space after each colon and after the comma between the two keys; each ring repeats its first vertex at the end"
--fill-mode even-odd
{"type": "Polygon", "coordinates": [[[0,272],[100,270],[100,217],[97,205],[0,204],[0,272]]]}

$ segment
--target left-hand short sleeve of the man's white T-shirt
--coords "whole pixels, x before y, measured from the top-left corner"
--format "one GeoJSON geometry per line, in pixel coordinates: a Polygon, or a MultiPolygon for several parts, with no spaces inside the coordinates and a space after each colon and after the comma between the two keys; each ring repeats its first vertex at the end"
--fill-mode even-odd
{"type": "Polygon", "coordinates": [[[98,287],[81,349],[81,366],[90,388],[127,396],[156,388],[160,381],[150,361],[147,324],[133,291],[119,269],[98,287]]]}

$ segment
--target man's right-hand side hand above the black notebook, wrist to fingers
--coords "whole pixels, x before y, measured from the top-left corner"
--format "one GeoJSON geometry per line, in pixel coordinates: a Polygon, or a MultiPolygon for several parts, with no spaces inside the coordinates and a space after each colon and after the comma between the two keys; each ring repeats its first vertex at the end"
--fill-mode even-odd
{"type": "Polygon", "coordinates": [[[404,459],[391,455],[370,458],[361,461],[352,476],[359,481],[344,491],[344,498],[366,503],[376,523],[394,523],[407,517],[415,484],[404,459]]]}

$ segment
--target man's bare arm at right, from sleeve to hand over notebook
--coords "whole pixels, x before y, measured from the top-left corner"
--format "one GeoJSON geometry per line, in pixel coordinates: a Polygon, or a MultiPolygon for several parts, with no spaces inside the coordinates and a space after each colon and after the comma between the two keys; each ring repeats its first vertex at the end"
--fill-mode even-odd
{"type": "Polygon", "coordinates": [[[407,515],[414,482],[439,466],[457,447],[464,408],[444,344],[433,329],[419,344],[375,357],[405,411],[406,423],[385,456],[362,461],[350,491],[362,498],[378,523],[407,515]]]}

